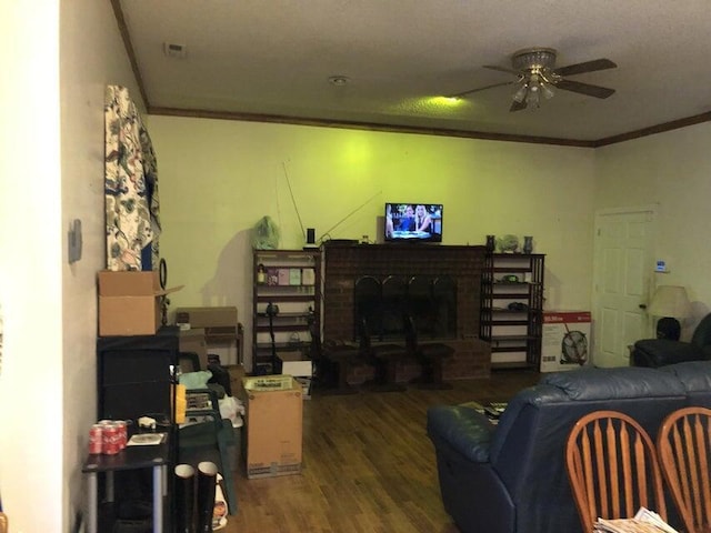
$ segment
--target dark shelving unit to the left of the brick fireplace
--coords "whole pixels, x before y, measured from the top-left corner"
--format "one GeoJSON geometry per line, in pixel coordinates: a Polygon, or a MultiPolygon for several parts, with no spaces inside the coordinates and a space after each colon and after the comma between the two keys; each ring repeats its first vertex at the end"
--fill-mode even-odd
{"type": "Polygon", "coordinates": [[[271,373],[271,331],[276,351],[306,352],[310,324],[320,326],[321,254],[319,250],[254,250],[253,274],[252,370],[271,373]]]}

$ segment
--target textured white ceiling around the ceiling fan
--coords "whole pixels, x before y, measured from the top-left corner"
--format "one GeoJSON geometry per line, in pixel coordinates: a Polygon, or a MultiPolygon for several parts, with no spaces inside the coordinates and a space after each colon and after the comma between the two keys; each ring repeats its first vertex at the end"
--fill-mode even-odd
{"type": "Polygon", "coordinates": [[[112,1],[152,112],[571,141],[711,120],[710,0],[112,1]],[[167,57],[164,43],[184,46],[186,57],[167,57]],[[482,66],[510,67],[511,53],[531,47],[557,49],[558,67],[614,61],[617,69],[570,79],[617,92],[602,100],[558,90],[539,109],[518,112],[509,112],[508,86],[455,109],[432,103],[513,80],[482,66]],[[350,82],[334,87],[332,76],[350,82]]]}

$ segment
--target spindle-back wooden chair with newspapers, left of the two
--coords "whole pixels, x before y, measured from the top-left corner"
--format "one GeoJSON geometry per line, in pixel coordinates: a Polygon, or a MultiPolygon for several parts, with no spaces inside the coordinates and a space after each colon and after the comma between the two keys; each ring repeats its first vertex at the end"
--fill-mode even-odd
{"type": "Polygon", "coordinates": [[[631,416],[582,416],[568,436],[565,467],[583,531],[592,531],[598,517],[631,519],[641,506],[667,520],[654,443],[631,416]]]}

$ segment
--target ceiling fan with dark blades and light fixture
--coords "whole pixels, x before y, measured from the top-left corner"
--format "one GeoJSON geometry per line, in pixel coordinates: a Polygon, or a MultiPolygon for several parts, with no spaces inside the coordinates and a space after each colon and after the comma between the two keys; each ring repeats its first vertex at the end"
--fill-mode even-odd
{"type": "Polygon", "coordinates": [[[510,69],[495,64],[484,64],[485,69],[499,70],[515,74],[518,80],[494,83],[478,89],[453,94],[452,98],[461,98],[473,92],[483,91],[494,87],[517,84],[518,89],[513,93],[513,103],[509,111],[520,111],[527,107],[539,107],[541,97],[553,98],[555,89],[578,92],[594,98],[608,98],[614,93],[614,89],[607,87],[591,86],[580,81],[568,80],[567,77],[594,72],[598,70],[614,69],[617,64],[609,59],[593,59],[582,63],[569,64],[568,67],[555,68],[557,51],[552,48],[527,48],[519,50],[511,56],[510,69]]]}

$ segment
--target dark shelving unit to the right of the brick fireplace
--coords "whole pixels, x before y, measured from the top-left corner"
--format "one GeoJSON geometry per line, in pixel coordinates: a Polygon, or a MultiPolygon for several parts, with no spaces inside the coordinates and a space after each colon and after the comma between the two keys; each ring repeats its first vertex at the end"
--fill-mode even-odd
{"type": "Polygon", "coordinates": [[[544,258],[524,253],[485,258],[480,336],[491,344],[492,369],[539,368],[544,258]]]}

